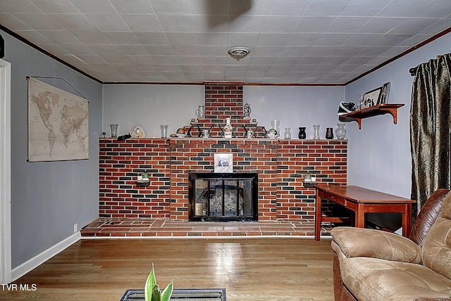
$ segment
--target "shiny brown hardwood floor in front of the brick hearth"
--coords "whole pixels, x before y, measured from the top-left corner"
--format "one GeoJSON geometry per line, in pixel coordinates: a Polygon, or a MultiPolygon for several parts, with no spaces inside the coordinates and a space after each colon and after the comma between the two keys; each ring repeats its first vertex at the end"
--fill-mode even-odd
{"type": "Polygon", "coordinates": [[[333,300],[330,238],[82,239],[0,290],[0,300],[120,300],[143,288],[226,288],[227,300],[333,300]],[[20,290],[28,285],[29,290],[20,290]]]}

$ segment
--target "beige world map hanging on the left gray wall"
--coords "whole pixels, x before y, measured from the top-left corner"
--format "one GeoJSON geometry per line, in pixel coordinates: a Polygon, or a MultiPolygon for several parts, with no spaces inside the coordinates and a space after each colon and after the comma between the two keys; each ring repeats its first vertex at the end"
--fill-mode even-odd
{"type": "Polygon", "coordinates": [[[88,101],[28,79],[28,161],[89,158],[88,101]]]}

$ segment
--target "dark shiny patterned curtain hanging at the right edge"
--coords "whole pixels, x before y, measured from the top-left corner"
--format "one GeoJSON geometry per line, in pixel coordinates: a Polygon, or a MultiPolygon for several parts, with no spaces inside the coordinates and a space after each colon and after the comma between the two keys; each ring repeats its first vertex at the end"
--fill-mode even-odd
{"type": "Polygon", "coordinates": [[[412,200],[416,213],[438,188],[450,188],[451,53],[416,68],[410,109],[412,200]]]}

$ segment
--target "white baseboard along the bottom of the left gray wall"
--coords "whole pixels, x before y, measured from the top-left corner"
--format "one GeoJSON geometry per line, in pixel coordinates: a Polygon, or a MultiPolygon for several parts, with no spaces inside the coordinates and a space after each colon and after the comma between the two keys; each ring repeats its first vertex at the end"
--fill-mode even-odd
{"type": "Polygon", "coordinates": [[[14,268],[11,271],[11,278],[12,281],[16,281],[18,278],[24,276],[32,269],[35,269],[36,267],[39,267],[39,265],[43,264],[47,260],[49,260],[51,257],[54,257],[59,252],[65,250],[73,243],[76,243],[77,241],[80,241],[81,234],[80,231],[77,233],[74,233],[72,236],[69,236],[64,241],[61,241],[54,245],[53,247],[45,250],[39,255],[36,255],[35,257],[31,258],[30,260],[27,260],[23,264],[20,264],[20,266],[14,268]]]}

